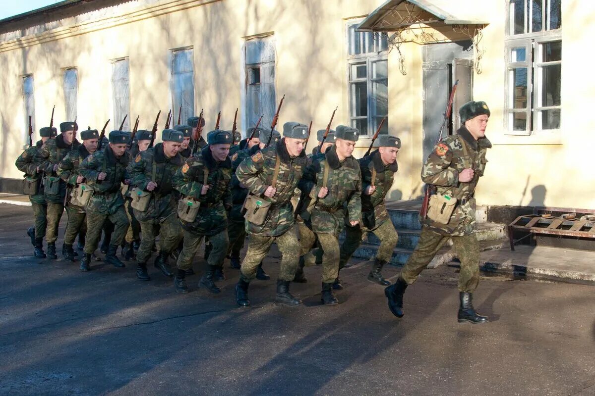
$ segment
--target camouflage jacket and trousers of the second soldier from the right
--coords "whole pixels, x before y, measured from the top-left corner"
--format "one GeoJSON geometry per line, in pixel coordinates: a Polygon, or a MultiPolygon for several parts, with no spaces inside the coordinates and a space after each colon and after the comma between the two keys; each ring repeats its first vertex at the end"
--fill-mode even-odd
{"type": "Polygon", "coordinates": [[[384,197],[392,187],[393,175],[398,169],[397,163],[385,166],[379,151],[374,151],[374,153],[359,159],[358,162],[362,172],[362,224],[355,227],[346,226],[346,237],[341,246],[339,269],[345,267],[353,252],[358,248],[364,233],[373,232],[380,239],[376,259],[385,263],[390,261],[394,246],[397,245],[397,232],[384,205],[384,197]],[[372,195],[367,195],[365,191],[372,185],[372,172],[375,173],[376,191],[372,195]]]}

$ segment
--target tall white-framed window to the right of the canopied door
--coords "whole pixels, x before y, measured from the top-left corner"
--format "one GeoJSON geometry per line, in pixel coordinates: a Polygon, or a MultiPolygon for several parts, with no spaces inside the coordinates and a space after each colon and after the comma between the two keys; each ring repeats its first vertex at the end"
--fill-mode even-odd
{"type": "Polygon", "coordinates": [[[560,129],[561,0],[511,0],[506,39],[505,130],[560,129]]]}

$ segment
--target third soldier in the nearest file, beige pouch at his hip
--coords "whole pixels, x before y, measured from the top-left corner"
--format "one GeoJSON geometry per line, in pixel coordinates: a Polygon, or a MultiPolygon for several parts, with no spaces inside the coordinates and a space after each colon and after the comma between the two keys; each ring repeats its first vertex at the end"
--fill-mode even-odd
{"type": "Polygon", "coordinates": [[[147,273],[146,261],[151,256],[151,249],[155,243],[155,226],[159,226],[160,248],[155,259],[155,268],[159,268],[165,276],[173,276],[167,258],[182,237],[180,223],[176,217],[177,199],[172,186],[172,176],[184,163],[178,152],[184,134],[174,129],[164,129],[161,140],[162,143],[137,154],[128,166],[131,184],[136,186],[132,194],[143,191],[151,193],[142,198],[147,201],[146,208],[141,207],[144,205],[133,208],[134,217],[140,222],[142,235],[136,254],[136,276],[140,280],[151,280],[147,273]]]}

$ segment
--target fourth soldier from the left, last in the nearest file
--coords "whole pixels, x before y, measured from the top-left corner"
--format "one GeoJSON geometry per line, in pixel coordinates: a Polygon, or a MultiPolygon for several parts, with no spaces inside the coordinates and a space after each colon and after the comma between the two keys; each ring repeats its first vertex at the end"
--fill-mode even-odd
{"type": "Polygon", "coordinates": [[[93,188],[93,197],[85,207],[87,212],[87,235],[84,256],[80,262],[81,271],[89,271],[91,255],[97,249],[101,230],[107,219],[114,224],[114,233],[104,261],[114,267],[126,267],[116,256],[118,246],[124,240],[129,226],[124,210],[124,199],[120,192],[121,183],[129,184],[126,172],[129,157],[126,148],[130,135],[122,131],[109,132],[109,144],[103,150],[90,154],[80,164],[79,173],[93,188]]]}

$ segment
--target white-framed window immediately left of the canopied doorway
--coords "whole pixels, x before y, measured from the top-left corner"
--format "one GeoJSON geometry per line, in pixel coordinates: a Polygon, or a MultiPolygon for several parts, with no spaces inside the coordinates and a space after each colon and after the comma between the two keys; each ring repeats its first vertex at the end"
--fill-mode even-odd
{"type": "Polygon", "coordinates": [[[349,119],[361,135],[372,135],[381,120],[380,131],[389,133],[389,62],[387,34],[355,31],[347,26],[349,65],[349,119]]]}

